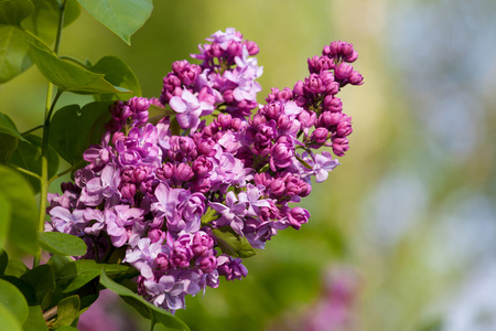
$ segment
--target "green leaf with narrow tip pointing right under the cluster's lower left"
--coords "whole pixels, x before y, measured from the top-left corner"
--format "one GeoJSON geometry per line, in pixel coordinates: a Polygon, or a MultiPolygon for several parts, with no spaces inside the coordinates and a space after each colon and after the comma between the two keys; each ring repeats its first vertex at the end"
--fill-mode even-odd
{"type": "Polygon", "coordinates": [[[134,268],[125,265],[97,264],[93,259],[78,259],[64,266],[61,271],[61,282],[68,282],[65,288],[63,287],[63,292],[67,293],[82,288],[100,276],[103,269],[110,275],[126,274],[134,270],[134,268]]]}

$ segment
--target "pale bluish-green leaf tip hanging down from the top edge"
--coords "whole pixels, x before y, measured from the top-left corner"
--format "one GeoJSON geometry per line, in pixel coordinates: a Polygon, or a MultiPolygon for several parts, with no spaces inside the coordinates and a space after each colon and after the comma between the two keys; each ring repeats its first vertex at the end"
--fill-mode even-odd
{"type": "Polygon", "coordinates": [[[127,44],[153,10],[152,0],[78,0],[101,24],[116,33],[127,44]]]}

